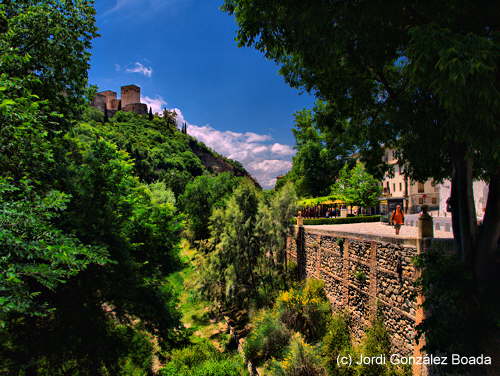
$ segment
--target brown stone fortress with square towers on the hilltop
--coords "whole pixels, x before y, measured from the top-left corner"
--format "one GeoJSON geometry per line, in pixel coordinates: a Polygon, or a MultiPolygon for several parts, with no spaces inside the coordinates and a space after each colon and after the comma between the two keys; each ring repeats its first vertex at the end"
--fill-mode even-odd
{"type": "Polygon", "coordinates": [[[98,108],[108,116],[113,116],[116,111],[135,112],[139,115],[148,113],[148,106],[141,103],[141,88],[136,85],[126,85],[121,87],[121,99],[118,99],[116,92],[111,90],[97,93],[92,106],[98,108]]]}

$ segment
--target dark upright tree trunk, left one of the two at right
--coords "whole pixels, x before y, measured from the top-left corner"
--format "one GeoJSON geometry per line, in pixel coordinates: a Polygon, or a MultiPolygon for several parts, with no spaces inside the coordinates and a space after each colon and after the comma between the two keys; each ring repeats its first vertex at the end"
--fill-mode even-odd
{"type": "Polygon", "coordinates": [[[472,161],[465,158],[464,149],[460,148],[452,157],[452,226],[457,252],[464,263],[472,268],[477,219],[472,191],[472,161]]]}

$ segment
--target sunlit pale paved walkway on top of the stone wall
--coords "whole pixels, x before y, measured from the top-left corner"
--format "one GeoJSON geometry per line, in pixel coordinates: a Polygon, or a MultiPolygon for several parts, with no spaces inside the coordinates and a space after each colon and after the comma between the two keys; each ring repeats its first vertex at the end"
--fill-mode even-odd
{"type": "MultiPolygon", "coordinates": [[[[355,234],[396,237],[394,227],[380,222],[348,223],[343,225],[306,225],[304,227],[327,231],[343,231],[355,234]]],[[[414,239],[417,237],[417,228],[414,226],[402,226],[398,237],[401,237],[402,239],[414,239]]],[[[434,237],[452,239],[453,234],[446,231],[434,231],[434,237]]]]}

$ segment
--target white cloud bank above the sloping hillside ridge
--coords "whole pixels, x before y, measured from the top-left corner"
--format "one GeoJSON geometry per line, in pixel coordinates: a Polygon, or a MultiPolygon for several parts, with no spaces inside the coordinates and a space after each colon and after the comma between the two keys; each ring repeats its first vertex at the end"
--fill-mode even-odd
{"type": "Polygon", "coordinates": [[[179,126],[186,122],[191,136],[216,152],[241,162],[264,188],[273,187],[276,177],[292,167],[293,148],[279,143],[270,144],[272,137],[269,135],[220,131],[210,125],[198,126],[187,122],[180,109],[174,108],[173,111],[177,113],[179,126]]]}

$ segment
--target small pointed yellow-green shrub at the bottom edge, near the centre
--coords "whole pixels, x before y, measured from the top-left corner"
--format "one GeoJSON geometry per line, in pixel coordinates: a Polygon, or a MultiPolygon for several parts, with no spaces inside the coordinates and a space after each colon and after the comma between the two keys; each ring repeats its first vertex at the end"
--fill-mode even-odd
{"type": "Polygon", "coordinates": [[[276,376],[326,376],[327,374],[314,347],[307,344],[300,333],[293,335],[286,358],[281,362],[272,362],[268,369],[276,376]]]}

